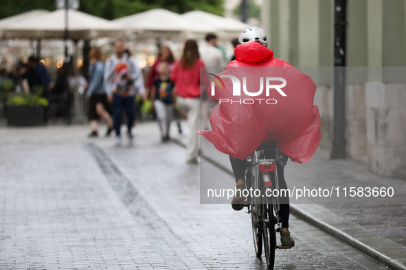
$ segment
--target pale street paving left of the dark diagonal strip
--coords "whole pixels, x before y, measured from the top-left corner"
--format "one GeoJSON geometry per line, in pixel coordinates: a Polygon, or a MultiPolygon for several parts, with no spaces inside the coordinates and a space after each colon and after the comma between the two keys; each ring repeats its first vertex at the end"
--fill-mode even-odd
{"type": "Polygon", "coordinates": [[[0,269],[167,268],[78,143],[87,131],[0,130],[0,269]]]}

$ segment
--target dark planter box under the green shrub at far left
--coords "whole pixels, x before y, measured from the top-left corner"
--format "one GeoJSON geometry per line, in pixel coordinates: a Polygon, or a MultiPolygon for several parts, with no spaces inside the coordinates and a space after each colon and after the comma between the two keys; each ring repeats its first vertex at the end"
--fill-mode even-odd
{"type": "Polygon", "coordinates": [[[45,107],[8,106],[7,124],[19,127],[45,125],[45,107]]]}

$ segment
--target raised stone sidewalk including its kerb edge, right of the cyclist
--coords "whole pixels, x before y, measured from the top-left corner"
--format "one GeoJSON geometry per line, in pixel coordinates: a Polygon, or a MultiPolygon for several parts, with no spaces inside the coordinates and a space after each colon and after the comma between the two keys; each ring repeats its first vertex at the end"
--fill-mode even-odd
{"type": "MultiPolygon", "coordinates": [[[[183,144],[182,139],[180,142],[183,144]]],[[[218,152],[203,137],[201,148],[203,158],[233,175],[228,156],[218,152]]],[[[328,157],[328,151],[319,148],[309,164],[289,161],[285,168],[288,186],[304,180],[322,186],[329,179],[356,187],[392,186],[395,192],[406,194],[405,180],[376,175],[363,162],[330,160],[328,157]]],[[[373,200],[370,201],[372,204],[291,205],[291,212],[384,265],[406,269],[406,199],[405,204],[373,204],[373,200]]]]}

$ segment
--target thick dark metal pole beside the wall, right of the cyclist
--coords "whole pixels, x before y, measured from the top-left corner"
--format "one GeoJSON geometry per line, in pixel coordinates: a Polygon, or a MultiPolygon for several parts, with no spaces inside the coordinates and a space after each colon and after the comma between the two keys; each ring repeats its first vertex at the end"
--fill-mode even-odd
{"type": "Polygon", "coordinates": [[[346,0],[335,0],[332,159],[346,158],[346,8],[346,0]]]}

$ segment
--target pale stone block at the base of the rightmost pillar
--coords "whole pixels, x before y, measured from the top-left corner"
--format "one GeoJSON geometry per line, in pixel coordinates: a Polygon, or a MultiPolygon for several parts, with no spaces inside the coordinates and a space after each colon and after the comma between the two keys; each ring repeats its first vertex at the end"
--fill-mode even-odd
{"type": "Polygon", "coordinates": [[[365,84],[368,163],[379,175],[406,167],[406,84],[365,84]]]}

